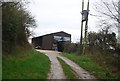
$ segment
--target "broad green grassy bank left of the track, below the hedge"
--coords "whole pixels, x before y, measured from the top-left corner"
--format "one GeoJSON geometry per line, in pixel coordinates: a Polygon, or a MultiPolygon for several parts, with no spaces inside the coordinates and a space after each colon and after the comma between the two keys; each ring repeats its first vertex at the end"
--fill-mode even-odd
{"type": "Polygon", "coordinates": [[[50,70],[47,56],[33,49],[16,53],[3,57],[3,79],[46,79],[50,70]]]}

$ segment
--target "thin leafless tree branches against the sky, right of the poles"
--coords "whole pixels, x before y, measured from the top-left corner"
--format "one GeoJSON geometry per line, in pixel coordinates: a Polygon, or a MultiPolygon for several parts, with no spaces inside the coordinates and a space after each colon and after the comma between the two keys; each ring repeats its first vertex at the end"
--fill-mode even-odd
{"type": "MultiPolygon", "coordinates": [[[[118,42],[120,43],[120,0],[100,0],[95,5],[100,23],[104,25],[112,25],[118,28],[118,42]]],[[[92,14],[91,14],[92,15],[92,14]]]]}

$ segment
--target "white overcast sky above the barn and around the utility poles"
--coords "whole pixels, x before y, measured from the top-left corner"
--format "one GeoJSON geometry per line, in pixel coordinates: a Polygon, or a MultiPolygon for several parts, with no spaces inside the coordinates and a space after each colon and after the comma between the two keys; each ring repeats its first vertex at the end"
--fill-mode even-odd
{"type": "MultiPolygon", "coordinates": [[[[32,0],[29,10],[37,23],[37,28],[33,30],[35,36],[65,31],[72,35],[72,42],[78,42],[80,40],[81,3],[82,0],[32,0]]],[[[90,13],[94,13],[92,8],[94,3],[95,0],[90,0],[90,13]]],[[[96,20],[95,17],[89,15],[88,31],[98,31],[96,20]]]]}

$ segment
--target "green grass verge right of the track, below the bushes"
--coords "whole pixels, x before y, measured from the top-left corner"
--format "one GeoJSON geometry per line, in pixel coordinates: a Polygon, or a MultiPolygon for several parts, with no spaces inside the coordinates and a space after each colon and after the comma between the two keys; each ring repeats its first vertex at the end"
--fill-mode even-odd
{"type": "MultiPolygon", "coordinates": [[[[119,79],[120,73],[112,73],[110,72],[110,67],[107,67],[106,65],[100,65],[100,62],[97,62],[95,59],[88,57],[87,55],[78,56],[75,54],[68,54],[63,53],[63,55],[77,64],[79,64],[82,68],[86,69],[88,72],[95,75],[97,78],[100,79],[119,79]]],[[[99,57],[98,57],[99,58],[99,57]]]]}

